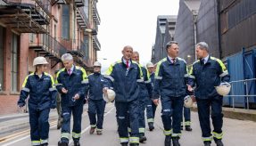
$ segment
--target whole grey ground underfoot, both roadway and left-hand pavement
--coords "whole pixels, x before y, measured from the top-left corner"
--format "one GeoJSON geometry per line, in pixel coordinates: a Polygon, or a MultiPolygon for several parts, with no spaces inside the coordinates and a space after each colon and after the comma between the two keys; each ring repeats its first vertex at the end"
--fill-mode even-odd
{"type": "MultiPolygon", "coordinates": [[[[103,135],[89,134],[89,120],[87,116],[87,105],[85,106],[82,121],[82,146],[119,146],[119,136],[117,134],[117,123],[115,118],[115,108],[112,103],[107,104],[104,114],[103,135]]],[[[199,126],[198,115],[192,112],[192,132],[182,131],[180,139],[182,146],[202,146],[201,129],[199,126]]],[[[52,110],[50,114],[50,134],[49,146],[57,145],[60,140],[60,130],[56,128],[57,113],[52,110]]],[[[5,130],[4,134],[0,134],[0,145],[2,146],[28,146],[29,139],[29,118],[28,114],[14,114],[0,118],[0,132],[5,130]],[[19,128],[18,125],[21,125],[19,128]],[[9,128],[7,128],[7,126],[9,128]],[[14,128],[15,127],[15,128],[14,128]],[[13,130],[18,129],[18,130],[13,130]]],[[[256,122],[250,120],[239,120],[232,118],[224,118],[224,139],[226,146],[255,146],[256,139],[256,122]]],[[[2,132],[3,133],[3,132],[2,132]]],[[[162,134],[161,123],[161,106],[158,107],[155,118],[155,129],[153,132],[146,130],[147,141],[140,145],[145,146],[163,146],[164,135],[162,134]]],[[[72,145],[72,141],[70,141],[72,145]]],[[[215,145],[215,144],[212,144],[215,145]]]]}

